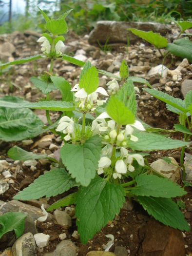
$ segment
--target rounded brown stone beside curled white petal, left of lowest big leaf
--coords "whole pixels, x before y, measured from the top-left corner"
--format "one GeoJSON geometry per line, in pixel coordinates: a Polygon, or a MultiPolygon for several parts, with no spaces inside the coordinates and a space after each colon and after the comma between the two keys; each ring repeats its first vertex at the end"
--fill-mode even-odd
{"type": "Polygon", "coordinates": [[[54,223],[68,229],[72,226],[71,217],[66,213],[59,211],[58,209],[54,212],[54,223]]]}

